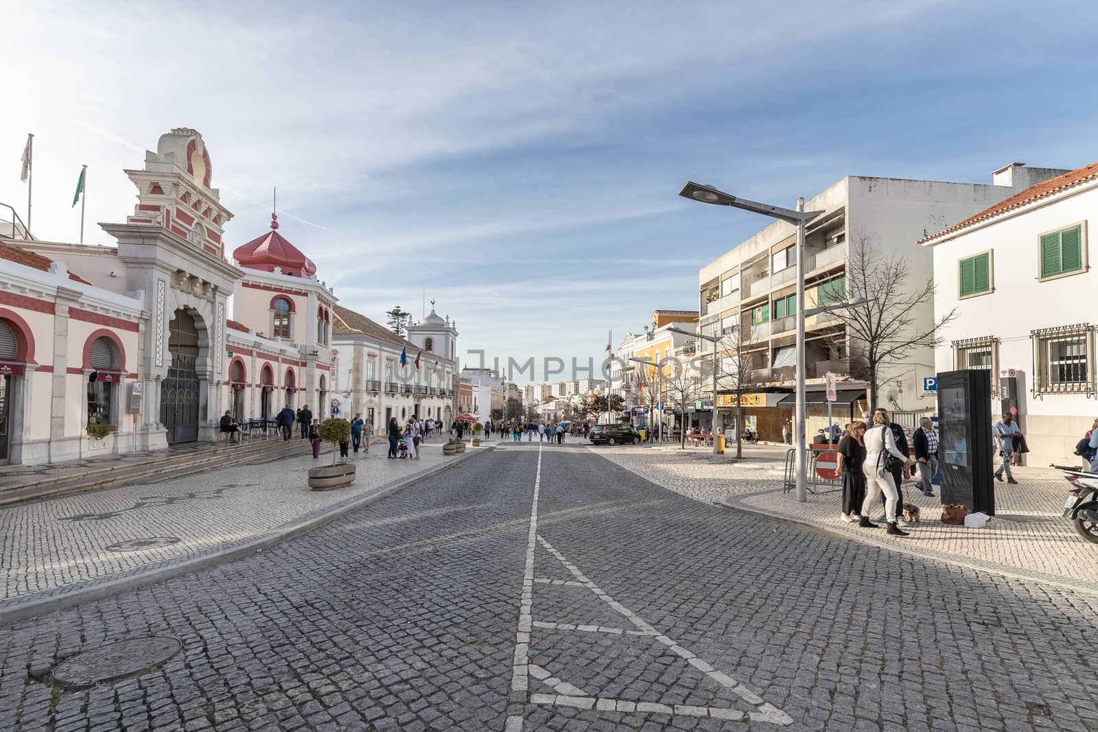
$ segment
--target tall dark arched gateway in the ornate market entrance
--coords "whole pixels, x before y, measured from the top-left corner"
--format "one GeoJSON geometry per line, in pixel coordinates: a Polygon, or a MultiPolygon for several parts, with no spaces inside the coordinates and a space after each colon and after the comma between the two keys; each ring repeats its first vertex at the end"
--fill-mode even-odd
{"type": "Polygon", "coordinates": [[[168,326],[171,363],[160,387],[160,423],[168,444],[199,439],[199,328],[186,309],[176,311],[168,326]]]}

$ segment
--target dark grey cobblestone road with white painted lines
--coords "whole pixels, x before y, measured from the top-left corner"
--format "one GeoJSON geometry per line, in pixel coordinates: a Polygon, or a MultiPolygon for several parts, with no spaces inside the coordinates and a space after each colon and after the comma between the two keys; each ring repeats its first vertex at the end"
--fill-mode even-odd
{"type": "Polygon", "coordinates": [[[248,559],[0,628],[0,729],[1098,729],[1095,596],[728,511],[604,454],[629,453],[504,442],[248,559]],[[182,650],[52,684],[143,635],[182,650]]]}

